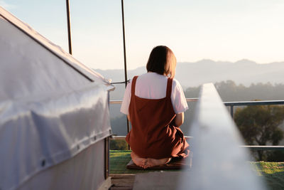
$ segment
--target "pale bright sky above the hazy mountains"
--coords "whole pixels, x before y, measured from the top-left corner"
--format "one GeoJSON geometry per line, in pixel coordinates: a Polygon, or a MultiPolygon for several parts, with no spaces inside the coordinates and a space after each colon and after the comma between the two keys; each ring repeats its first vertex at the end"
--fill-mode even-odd
{"type": "MultiPolygon", "coordinates": [[[[65,1],[0,0],[0,6],[67,48],[65,1]]],[[[124,0],[127,68],[145,66],[153,47],[178,62],[284,61],[283,0],[124,0]]],[[[122,69],[120,0],[70,0],[73,56],[90,68],[122,69]]]]}

